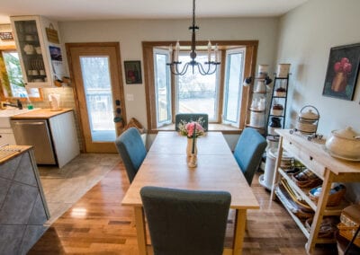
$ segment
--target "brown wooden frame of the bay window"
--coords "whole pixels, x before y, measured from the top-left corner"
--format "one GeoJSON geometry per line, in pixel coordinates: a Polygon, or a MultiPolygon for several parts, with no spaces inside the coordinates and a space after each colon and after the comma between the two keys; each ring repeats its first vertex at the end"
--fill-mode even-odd
{"type": "MultiPolygon", "coordinates": [[[[145,93],[146,93],[146,103],[147,103],[147,117],[148,117],[148,133],[156,134],[159,130],[165,130],[164,128],[157,128],[157,119],[156,119],[156,95],[155,95],[155,84],[154,84],[154,65],[153,65],[153,48],[164,48],[168,49],[168,45],[175,45],[175,41],[142,41],[142,52],[143,52],[143,62],[144,62],[144,76],[145,76],[145,93]]],[[[208,41],[197,41],[197,44],[207,45],[208,41]]],[[[256,69],[256,59],[257,59],[257,47],[258,40],[213,40],[212,44],[218,44],[220,48],[221,59],[225,58],[226,49],[236,48],[236,47],[245,47],[245,64],[244,64],[244,77],[254,76],[256,69]]],[[[191,41],[180,41],[182,46],[190,46],[191,41]]],[[[222,118],[222,109],[223,109],[223,92],[224,92],[224,72],[225,65],[221,63],[220,65],[220,92],[219,92],[219,122],[215,124],[221,124],[222,118]]],[[[172,99],[175,97],[175,75],[171,75],[171,86],[172,86],[172,99]]],[[[173,100],[174,101],[174,100],[173,100]]],[[[250,91],[249,86],[242,88],[241,95],[241,106],[240,106],[240,116],[238,127],[229,130],[228,128],[216,128],[217,131],[222,131],[225,134],[238,134],[245,127],[245,119],[247,114],[247,106],[250,101],[250,91]]],[[[175,104],[172,103],[172,112],[175,112],[175,104]]],[[[172,114],[172,122],[175,121],[175,116],[172,114]]],[[[173,128],[171,128],[172,130],[173,128]]],[[[169,129],[170,130],[170,129],[169,129]]]]}

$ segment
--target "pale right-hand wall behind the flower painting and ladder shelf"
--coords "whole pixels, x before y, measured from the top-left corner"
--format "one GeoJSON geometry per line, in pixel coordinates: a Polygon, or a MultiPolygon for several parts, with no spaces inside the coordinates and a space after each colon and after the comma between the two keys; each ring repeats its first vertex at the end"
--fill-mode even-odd
{"type": "MultiPolygon", "coordinates": [[[[359,82],[354,101],[322,96],[330,48],[360,42],[358,10],[358,0],[311,0],[281,18],[277,63],[291,63],[293,73],[288,127],[302,106],[311,104],[320,111],[320,134],[347,126],[360,132],[359,82]]],[[[348,186],[348,196],[359,201],[360,184],[348,186]]]]}

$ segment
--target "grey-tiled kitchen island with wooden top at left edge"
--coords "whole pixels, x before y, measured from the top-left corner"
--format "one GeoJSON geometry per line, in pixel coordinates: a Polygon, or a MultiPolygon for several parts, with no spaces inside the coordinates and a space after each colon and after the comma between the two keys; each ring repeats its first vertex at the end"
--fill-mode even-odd
{"type": "Polygon", "coordinates": [[[1,146],[0,254],[26,254],[49,217],[32,146],[1,146]]]}

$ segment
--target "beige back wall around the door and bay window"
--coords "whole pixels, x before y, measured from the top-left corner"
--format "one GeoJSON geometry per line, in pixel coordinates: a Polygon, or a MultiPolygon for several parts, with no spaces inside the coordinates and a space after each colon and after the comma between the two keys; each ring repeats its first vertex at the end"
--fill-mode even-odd
{"type": "MultiPolygon", "coordinates": [[[[99,42],[119,41],[121,68],[124,60],[141,60],[141,41],[190,40],[185,20],[116,20],[101,22],[59,22],[62,41],[99,42]]],[[[274,63],[277,44],[277,18],[257,19],[199,19],[197,40],[259,40],[257,63],[274,63]]],[[[143,70],[143,66],[141,66],[143,70]]],[[[142,74],[143,75],[143,74],[142,74]]],[[[132,94],[134,101],[125,101],[127,119],[132,117],[147,127],[144,84],[125,84],[125,98],[132,94]]],[[[144,81],[144,77],[143,77],[144,81]]]]}

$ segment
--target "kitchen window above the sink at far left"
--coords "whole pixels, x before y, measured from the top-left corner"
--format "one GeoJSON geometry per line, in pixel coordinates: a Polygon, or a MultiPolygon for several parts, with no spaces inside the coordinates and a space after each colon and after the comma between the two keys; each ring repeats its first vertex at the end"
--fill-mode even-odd
{"type": "Polygon", "coordinates": [[[2,53],[6,69],[6,74],[2,74],[5,97],[40,97],[38,89],[28,89],[28,91],[25,89],[19,54],[16,51],[3,51],[2,53]]]}

